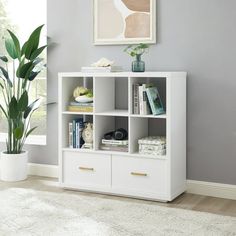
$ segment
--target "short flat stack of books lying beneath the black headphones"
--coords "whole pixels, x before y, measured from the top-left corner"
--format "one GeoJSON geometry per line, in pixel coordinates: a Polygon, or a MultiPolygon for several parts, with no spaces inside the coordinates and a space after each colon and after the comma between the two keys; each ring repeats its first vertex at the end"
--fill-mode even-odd
{"type": "Polygon", "coordinates": [[[128,152],[128,140],[102,139],[101,150],[128,152]]]}

